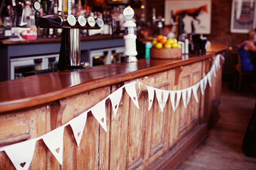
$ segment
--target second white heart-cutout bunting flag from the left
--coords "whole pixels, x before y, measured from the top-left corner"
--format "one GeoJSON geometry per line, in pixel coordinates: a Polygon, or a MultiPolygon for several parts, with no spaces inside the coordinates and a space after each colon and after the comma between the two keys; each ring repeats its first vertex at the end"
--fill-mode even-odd
{"type": "Polygon", "coordinates": [[[52,152],[53,156],[62,165],[63,162],[63,133],[65,125],[58,127],[42,136],[44,143],[52,152]]]}

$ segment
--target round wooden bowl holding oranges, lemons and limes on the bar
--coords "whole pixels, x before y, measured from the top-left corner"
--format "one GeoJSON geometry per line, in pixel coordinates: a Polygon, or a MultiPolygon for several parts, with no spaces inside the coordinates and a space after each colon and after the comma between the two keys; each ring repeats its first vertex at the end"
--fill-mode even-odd
{"type": "Polygon", "coordinates": [[[150,58],[177,59],[181,57],[181,48],[150,48],[150,58]]]}

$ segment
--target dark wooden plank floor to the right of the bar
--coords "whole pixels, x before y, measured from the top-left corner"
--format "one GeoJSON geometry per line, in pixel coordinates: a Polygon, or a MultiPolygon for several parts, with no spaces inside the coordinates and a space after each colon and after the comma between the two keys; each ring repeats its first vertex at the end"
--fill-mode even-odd
{"type": "Polygon", "coordinates": [[[218,108],[220,119],[209,131],[208,138],[177,170],[256,170],[256,158],[245,156],[241,150],[256,95],[229,91],[227,86],[224,82],[218,108]]]}

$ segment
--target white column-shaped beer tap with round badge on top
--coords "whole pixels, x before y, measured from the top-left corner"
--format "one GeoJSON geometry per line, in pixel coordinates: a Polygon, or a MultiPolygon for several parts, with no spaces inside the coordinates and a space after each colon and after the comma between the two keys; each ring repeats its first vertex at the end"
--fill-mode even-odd
{"type": "Polygon", "coordinates": [[[134,27],[136,27],[136,23],[134,23],[131,18],[134,16],[134,10],[130,7],[127,7],[123,10],[123,15],[128,20],[123,23],[123,27],[125,28],[125,59],[124,62],[137,62],[138,59],[137,51],[136,51],[136,38],[137,36],[134,34],[134,27]]]}

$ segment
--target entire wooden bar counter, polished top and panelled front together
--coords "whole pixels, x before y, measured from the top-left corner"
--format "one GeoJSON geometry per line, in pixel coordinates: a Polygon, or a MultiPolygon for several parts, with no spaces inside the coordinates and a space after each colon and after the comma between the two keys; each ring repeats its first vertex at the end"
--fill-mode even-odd
{"type": "MultiPolygon", "coordinates": [[[[226,45],[212,44],[206,54],[188,54],[187,59],[139,59],[87,68],[61,71],[0,82],[0,147],[37,138],[64,125],[116,91],[139,80],[163,90],[180,90],[199,82],[210,70],[216,54],[226,45]]],[[[148,92],[141,85],[140,109],[123,91],[116,117],[106,100],[107,132],[91,112],[80,146],[73,131],[64,129],[63,164],[38,140],[31,170],[124,170],[173,169],[207,136],[212,110],[221,94],[221,69],[212,76],[205,94],[198,89],[199,102],[191,96],[187,108],[182,101],[176,111],[168,99],[160,111],[156,97],[148,111],[148,92]]],[[[139,91],[139,89],[137,89],[139,91]]],[[[216,113],[215,113],[216,114],[216,113]]],[[[0,170],[14,165],[0,152],[0,170]]]]}

